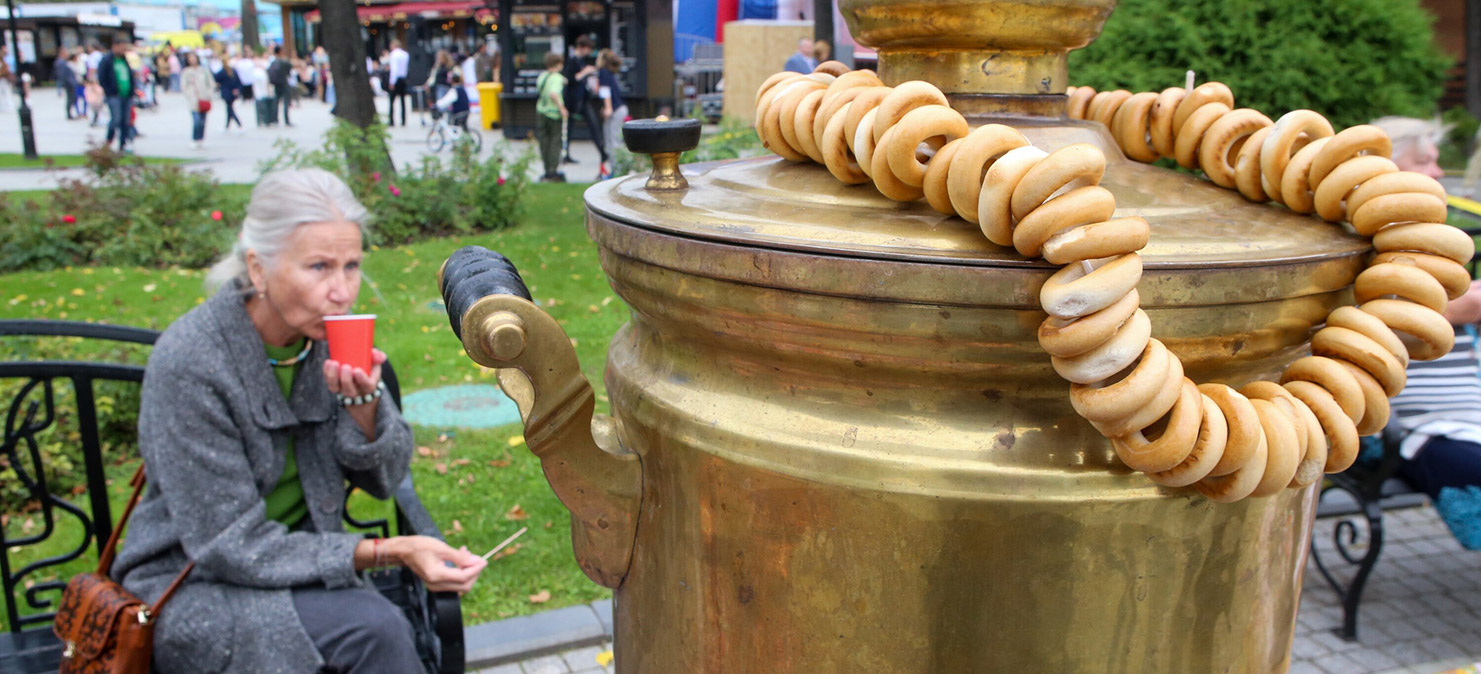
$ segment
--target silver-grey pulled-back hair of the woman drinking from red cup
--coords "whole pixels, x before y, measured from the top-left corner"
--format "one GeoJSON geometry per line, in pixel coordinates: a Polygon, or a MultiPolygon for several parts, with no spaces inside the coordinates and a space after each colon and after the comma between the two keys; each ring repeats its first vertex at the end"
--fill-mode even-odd
{"type": "Polygon", "coordinates": [[[262,176],[252,188],[237,243],[206,273],[206,289],[215,292],[234,280],[250,289],[247,250],[256,252],[271,267],[293,230],[332,221],[354,222],[361,234],[370,221],[370,213],[336,175],[323,169],[298,169],[262,176]]]}

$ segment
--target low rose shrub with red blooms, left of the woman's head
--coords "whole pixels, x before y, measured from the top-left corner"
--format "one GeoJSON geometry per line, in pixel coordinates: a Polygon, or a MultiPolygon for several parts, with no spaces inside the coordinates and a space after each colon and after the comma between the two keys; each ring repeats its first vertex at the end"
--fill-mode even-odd
{"type": "Polygon", "coordinates": [[[107,148],[87,151],[87,175],[62,179],[49,200],[0,196],[0,273],[71,265],[203,267],[244,209],[209,173],[147,166],[107,148]]]}

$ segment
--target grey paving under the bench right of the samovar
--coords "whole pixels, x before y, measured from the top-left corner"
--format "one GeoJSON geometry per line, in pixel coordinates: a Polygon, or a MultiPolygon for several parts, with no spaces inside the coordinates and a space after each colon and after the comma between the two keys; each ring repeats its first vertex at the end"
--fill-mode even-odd
{"type": "MultiPolygon", "coordinates": [[[[1342,564],[1333,548],[1340,517],[1317,521],[1312,544],[1342,564]]],[[[1358,530],[1365,536],[1365,520],[1358,530]]],[[[1297,615],[1290,674],[1438,674],[1481,662],[1481,551],[1468,553],[1431,507],[1392,510],[1385,544],[1358,610],[1358,641],[1343,641],[1342,603],[1315,563],[1297,615]]]]}

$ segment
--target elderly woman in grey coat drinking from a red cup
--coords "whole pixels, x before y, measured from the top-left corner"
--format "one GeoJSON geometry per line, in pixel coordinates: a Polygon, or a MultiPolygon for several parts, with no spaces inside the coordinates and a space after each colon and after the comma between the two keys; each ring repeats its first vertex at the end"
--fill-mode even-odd
{"type": "Polygon", "coordinates": [[[113,576],[154,601],[158,671],[416,673],[410,625],[360,570],[403,564],[468,591],[484,561],[425,536],[342,526],[345,483],[387,498],[412,431],[370,372],[327,358],[324,317],[360,292],[366,209],[323,170],[265,176],[207,302],[160,336],[144,378],[150,486],[113,576]],[[361,401],[367,400],[369,401],[361,401]]]}

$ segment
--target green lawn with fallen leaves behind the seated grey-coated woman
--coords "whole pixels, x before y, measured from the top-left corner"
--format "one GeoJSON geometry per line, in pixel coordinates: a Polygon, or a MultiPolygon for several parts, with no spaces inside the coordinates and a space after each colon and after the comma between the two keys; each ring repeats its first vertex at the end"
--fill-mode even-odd
{"type": "MultiPolygon", "coordinates": [[[[582,369],[597,388],[598,409],[607,409],[601,370],[607,344],[626,321],[628,310],[607,286],[597,262],[597,249],[586,238],[582,190],[584,185],[532,185],[526,216],[517,227],[486,236],[373,249],[366,255],[367,283],[361,289],[357,311],[381,316],[376,342],[391,356],[407,393],[443,384],[495,382],[492,372],[483,370],[462,353],[447,326],[435,284],[437,268],[447,255],[464,244],[481,244],[508,255],[518,265],[536,301],[572,336],[582,369]]],[[[201,273],[194,270],[73,268],[0,276],[0,318],[90,320],[163,329],[201,301],[201,273]]],[[[0,357],[98,357],[96,353],[84,354],[74,344],[62,342],[10,339],[0,344],[0,357]]],[[[132,350],[114,350],[110,354],[132,361],[144,358],[142,351],[132,350]]],[[[0,396],[0,400],[9,400],[9,396],[0,396]]],[[[518,425],[487,431],[416,430],[419,449],[412,473],[422,501],[449,542],[484,553],[520,526],[530,527],[520,539],[520,548],[490,564],[474,591],[464,598],[464,619],[468,624],[591,601],[610,594],[589,582],[576,567],[570,551],[569,517],[545,484],[539,462],[523,446],[520,433],[518,425]],[[523,511],[527,518],[511,518],[511,511],[515,517],[523,511]],[[532,604],[529,595],[544,590],[551,593],[551,600],[532,604]]],[[[118,456],[117,452],[111,459],[111,496],[121,504],[127,496],[126,477],[133,471],[136,459],[118,456]]],[[[9,505],[13,511],[15,504],[9,505]]],[[[360,515],[376,514],[384,508],[369,498],[357,498],[352,504],[360,515]]],[[[7,520],[7,536],[34,533],[43,524],[36,514],[12,513],[7,520]]],[[[71,545],[76,545],[76,532],[73,527],[71,545]]],[[[61,542],[67,536],[64,530],[58,541],[27,548],[12,560],[25,564],[58,554],[70,547],[61,542]]],[[[80,561],[62,573],[86,567],[87,563],[80,561]]],[[[3,628],[0,624],[0,630],[3,628]]]]}

